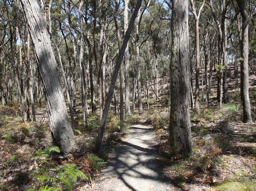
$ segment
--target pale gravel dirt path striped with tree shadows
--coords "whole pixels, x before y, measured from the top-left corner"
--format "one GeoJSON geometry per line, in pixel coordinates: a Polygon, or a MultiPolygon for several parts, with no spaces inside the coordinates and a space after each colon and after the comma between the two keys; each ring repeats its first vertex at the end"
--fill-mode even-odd
{"type": "Polygon", "coordinates": [[[152,134],[152,127],[136,125],[115,151],[100,175],[95,189],[101,191],[164,191],[178,190],[163,175],[161,158],[152,134]]]}

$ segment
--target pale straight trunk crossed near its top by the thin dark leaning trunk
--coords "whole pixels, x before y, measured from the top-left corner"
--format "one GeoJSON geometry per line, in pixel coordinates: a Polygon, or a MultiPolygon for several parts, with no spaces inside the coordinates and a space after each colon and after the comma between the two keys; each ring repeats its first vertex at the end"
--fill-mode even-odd
{"type": "MultiPolygon", "coordinates": [[[[128,4],[130,0],[124,0],[124,34],[128,28],[128,4]]],[[[124,53],[124,67],[125,67],[125,114],[130,115],[130,77],[129,77],[129,42],[127,43],[124,53]]]]}

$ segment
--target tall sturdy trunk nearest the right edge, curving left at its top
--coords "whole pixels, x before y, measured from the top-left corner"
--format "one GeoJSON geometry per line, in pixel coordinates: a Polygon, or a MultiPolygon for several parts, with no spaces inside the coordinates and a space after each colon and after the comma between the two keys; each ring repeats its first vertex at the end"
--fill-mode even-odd
{"type": "Polygon", "coordinates": [[[245,8],[244,0],[237,0],[239,11],[243,18],[242,25],[242,43],[241,43],[241,100],[243,102],[243,122],[251,123],[252,116],[250,111],[250,98],[249,98],[249,69],[248,69],[248,56],[249,56],[249,18],[245,8]]]}

